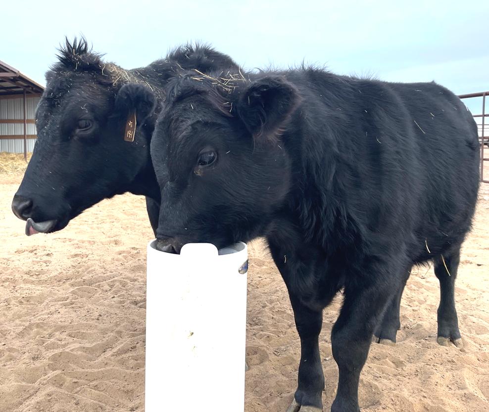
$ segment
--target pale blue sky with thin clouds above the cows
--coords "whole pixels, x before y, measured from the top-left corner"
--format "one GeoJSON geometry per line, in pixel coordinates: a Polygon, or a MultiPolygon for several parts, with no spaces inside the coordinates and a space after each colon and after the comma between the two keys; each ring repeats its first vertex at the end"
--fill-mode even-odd
{"type": "MultiPolygon", "coordinates": [[[[83,33],[96,51],[124,68],[200,40],[245,68],[304,60],[340,74],[435,80],[457,94],[489,90],[487,0],[28,0],[22,6],[22,13],[2,9],[0,60],[41,84],[63,37],[83,33]]],[[[473,112],[480,112],[479,105],[469,103],[473,112]]]]}

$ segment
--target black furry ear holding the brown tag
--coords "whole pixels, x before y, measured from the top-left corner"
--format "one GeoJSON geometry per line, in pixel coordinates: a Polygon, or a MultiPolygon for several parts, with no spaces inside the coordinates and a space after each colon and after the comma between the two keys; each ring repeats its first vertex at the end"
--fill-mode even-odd
{"type": "Polygon", "coordinates": [[[138,123],[144,122],[153,113],[156,97],[146,86],[129,83],[122,86],[115,98],[115,110],[120,116],[136,112],[138,123]]]}

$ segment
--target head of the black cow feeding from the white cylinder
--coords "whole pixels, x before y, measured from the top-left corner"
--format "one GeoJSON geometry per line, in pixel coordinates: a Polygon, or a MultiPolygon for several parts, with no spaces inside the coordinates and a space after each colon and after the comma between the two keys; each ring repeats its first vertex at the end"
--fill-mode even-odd
{"type": "Polygon", "coordinates": [[[190,73],[175,80],[151,140],[161,187],[159,250],[223,247],[263,234],[290,190],[281,141],[298,104],[283,77],[246,81],[190,73]]]}

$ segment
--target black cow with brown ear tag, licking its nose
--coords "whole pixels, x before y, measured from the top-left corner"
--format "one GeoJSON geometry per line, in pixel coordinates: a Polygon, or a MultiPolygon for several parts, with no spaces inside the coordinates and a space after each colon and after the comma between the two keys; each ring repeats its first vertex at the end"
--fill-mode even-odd
{"type": "Polygon", "coordinates": [[[53,232],[100,200],[129,191],[146,196],[156,230],[160,191],[149,141],[161,91],[185,69],[207,72],[236,64],[199,45],[176,48],[132,70],[104,62],[85,39],[66,40],[59,51],[59,62],[46,74],[36,112],[38,139],[13,212],[27,221],[26,234],[53,232]],[[126,130],[133,113],[137,129],[126,130]],[[125,132],[135,132],[134,141],[125,141],[125,132]]]}

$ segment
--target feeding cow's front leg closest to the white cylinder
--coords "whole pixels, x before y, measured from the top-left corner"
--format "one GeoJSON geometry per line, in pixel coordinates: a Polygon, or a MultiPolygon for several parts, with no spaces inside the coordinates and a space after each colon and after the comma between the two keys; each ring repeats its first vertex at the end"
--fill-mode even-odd
{"type": "Polygon", "coordinates": [[[320,412],[323,410],[324,374],[319,355],[319,333],[323,311],[306,307],[292,295],[291,303],[300,337],[300,363],[297,390],[287,412],[320,412]]]}

